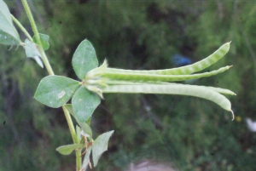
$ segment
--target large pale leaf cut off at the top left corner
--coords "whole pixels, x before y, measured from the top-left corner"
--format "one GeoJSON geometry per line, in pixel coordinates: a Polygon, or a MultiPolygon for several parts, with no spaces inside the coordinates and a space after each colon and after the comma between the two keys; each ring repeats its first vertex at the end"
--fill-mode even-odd
{"type": "Polygon", "coordinates": [[[13,25],[9,9],[3,0],[0,0],[0,43],[19,45],[20,42],[20,36],[13,25]]]}

